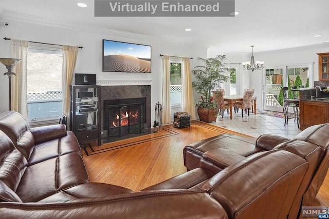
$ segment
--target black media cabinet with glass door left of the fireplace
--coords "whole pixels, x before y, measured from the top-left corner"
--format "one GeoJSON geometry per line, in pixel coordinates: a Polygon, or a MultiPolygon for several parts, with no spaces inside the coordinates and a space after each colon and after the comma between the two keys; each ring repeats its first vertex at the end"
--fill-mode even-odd
{"type": "Polygon", "coordinates": [[[100,86],[71,85],[70,130],[81,146],[97,142],[101,145],[100,134],[100,86]]]}

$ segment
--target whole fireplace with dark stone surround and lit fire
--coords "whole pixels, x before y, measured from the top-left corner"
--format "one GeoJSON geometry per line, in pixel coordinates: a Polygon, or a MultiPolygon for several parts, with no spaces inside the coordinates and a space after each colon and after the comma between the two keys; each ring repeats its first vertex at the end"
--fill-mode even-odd
{"type": "Polygon", "coordinates": [[[151,130],[151,86],[102,86],[102,142],[115,142],[151,130]],[[137,113],[138,111],[138,113],[137,113]]]}

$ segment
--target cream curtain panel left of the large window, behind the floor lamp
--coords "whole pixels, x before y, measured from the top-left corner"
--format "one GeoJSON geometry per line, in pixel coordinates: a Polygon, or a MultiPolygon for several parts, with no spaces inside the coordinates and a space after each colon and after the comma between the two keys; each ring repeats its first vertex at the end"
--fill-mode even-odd
{"type": "Polygon", "coordinates": [[[13,72],[16,76],[11,79],[12,87],[12,106],[11,109],[23,115],[25,120],[28,118],[27,108],[27,51],[29,47],[28,41],[21,41],[19,39],[11,39],[10,41],[10,55],[13,58],[22,59],[21,62],[15,65],[13,72]]]}

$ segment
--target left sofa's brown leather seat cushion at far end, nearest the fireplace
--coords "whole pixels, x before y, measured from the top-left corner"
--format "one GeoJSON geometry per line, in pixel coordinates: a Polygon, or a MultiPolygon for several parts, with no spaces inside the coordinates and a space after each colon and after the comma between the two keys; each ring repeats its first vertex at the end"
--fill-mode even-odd
{"type": "Polygon", "coordinates": [[[76,136],[71,131],[68,131],[64,137],[36,144],[28,165],[34,165],[68,153],[81,154],[76,136]]]}

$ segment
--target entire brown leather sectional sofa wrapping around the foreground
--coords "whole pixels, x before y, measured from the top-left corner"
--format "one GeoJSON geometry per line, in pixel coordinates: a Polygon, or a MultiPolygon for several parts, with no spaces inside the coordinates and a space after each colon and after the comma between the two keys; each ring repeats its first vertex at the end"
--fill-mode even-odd
{"type": "Polygon", "coordinates": [[[0,213],[2,218],[296,218],[324,180],[328,134],[328,125],[310,127],[279,145],[261,136],[254,144],[261,149],[248,154],[240,144],[245,152],[236,157],[229,143],[190,148],[191,154],[197,151],[196,168],[134,192],[89,183],[79,144],[65,126],[29,129],[19,113],[8,111],[0,114],[0,213]]]}

